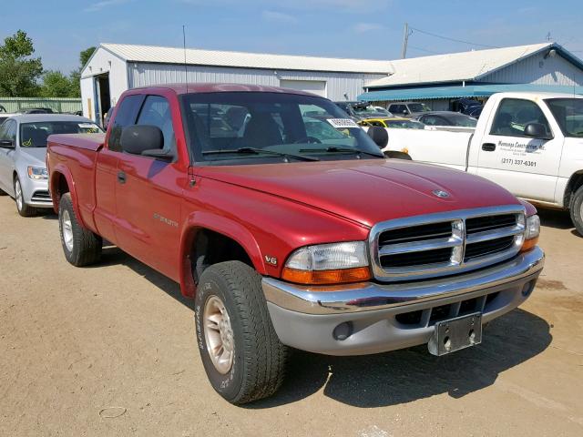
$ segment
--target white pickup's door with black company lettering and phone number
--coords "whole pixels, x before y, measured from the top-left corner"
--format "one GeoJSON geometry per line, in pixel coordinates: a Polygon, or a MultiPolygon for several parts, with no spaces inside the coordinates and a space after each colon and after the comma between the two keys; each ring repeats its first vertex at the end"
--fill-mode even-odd
{"type": "MultiPolygon", "coordinates": [[[[547,111],[547,108],[545,108],[547,111]]],[[[548,122],[537,103],[503,98],[478,147],[477,174],[493,180],[520,198],[552,202],[557,185],[563,137],[548,122]],[[551,139],[524,134],[529,123],[540,123],[551,139]]]]}

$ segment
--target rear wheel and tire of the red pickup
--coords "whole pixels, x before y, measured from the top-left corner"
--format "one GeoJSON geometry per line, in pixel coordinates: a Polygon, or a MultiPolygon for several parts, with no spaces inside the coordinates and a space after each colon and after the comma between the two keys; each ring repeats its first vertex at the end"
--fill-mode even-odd
{"type": "MultiPolygon", "coordinates": [[[[87,266],[96,263],[101,258],[101,247],[103,240],[89,229],[79,225],[73,200],[69,193],[61,196],[58,204],[58,230],[61,237],[61,245],[65,252],[65,258],[77,267],[87,266]],[[68,218],[68,220],[67,220],[68,218]],[[67,221],[70,222],[71,247],[67,246],[64,229],[68,228],[67,221]]],[[[68,232],[65,230],[65,232],[68,232]]]]}

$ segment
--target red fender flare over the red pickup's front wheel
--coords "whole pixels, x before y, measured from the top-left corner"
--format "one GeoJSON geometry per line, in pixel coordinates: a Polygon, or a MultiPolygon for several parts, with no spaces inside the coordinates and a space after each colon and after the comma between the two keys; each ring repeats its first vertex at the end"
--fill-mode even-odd
{"type": "Polygon", "coordinates": [[[254,269],[261,275],[266,274],[259,243],[249,229],[246,229],[233,219],[208,211],[196,211],[187,217],[180,235],[179,282],[182,295],[194,297],[196,293],[196,284],[192,276],[190,249],[199,229],[209,229],[236,241],[251,259],[254,269]]]}

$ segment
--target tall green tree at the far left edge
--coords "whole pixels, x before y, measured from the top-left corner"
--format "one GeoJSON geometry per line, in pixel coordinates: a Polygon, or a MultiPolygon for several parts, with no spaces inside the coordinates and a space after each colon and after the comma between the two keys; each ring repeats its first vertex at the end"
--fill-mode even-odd
{"type": "Polygon", "coordinates": [[[43,74],[40,57],[30,57],[35,47],[23,30],[8,36],[0,46],[0,96],[34,97],[43,74]]]}

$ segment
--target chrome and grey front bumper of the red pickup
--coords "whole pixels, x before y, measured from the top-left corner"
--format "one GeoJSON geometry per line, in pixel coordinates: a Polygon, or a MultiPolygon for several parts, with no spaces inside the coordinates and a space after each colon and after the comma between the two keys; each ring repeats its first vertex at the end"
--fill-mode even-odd
{"type": "Polygon", "coordinates": [[[496,266],[435,280],[302,287],[263,278],[281,342],[302,351],[365,355],[427,343],[435,322],[482,312],[483,322],[527,300],[544,266],[536,247],[496,266]]]}

